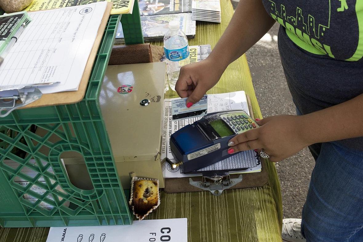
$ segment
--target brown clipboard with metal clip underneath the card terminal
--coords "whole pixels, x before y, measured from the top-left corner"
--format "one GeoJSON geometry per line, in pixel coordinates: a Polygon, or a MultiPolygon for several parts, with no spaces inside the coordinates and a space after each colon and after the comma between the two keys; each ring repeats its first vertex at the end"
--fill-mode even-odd
{"type": "MultiPolygon", "coordinates": [[[[247,97],[248,108],[250,110],[250,116],[254,119],[250,98],[248,95],[246,95],[246,97],[247,97]]],[[[228,188],[225,188],[225,190],[265,186],[268,183],[268,173],[267,173],[267,169],[266,169],[266,162],[269,162],[269,161],[261,158],[261,172],[229,174],[228,176],[226,176],[225,179],[227,181],[224,180],[223,182],[224,183],[230,182],[231,184],[228,186],[228,188]],[[233,184],[235,184],[235,185],[233,185],[233,184]]],[[[202,184],[203,182],[206,182],[206,180],[204,178],[205,177],[203,177],[203,176],[166,178],[164,191],[166,193],[183,193],[183,192],[209,190],[209,189],[201,189],[201,188],[195,186],[197,184],[202,184]],[[194,185],[192,185],[192,184],[194,184],[194,185]]],[[[223,183],[222,183],[222,185],[223,185],[223,183]]],[[[210,191],[212,192],[212,190],[210,190],[210,191]]],[[[215,190],[213,190],[212,193],[213,193],[213,195],[221,194],[220,192],[216,193],[215,190]]]]}

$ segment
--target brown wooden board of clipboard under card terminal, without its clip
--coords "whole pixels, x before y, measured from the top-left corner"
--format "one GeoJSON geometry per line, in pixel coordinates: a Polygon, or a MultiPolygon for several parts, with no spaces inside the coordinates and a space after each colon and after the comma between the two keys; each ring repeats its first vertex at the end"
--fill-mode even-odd
{"type": "MultiPolygon", "coordinates": [[[[248,108],[250,110],[250,116],[254,119],[251,101],[248,96],[247,96],[247,104],[248,104],[248,108]]],[[[269,162],[269,161],[261,158],[261,172],[242,173],[242,181],[228,189],[257,187],[257,186],[266,185],[268,183],[268,173],[267,173],[267,169],[266,169],[266,162],[269,162]]],[[[231,176],[231,178],[237,178],[240,176],[240,174],[231,174],[230,176],[231,176]]],[[[164,191],[166,193],[183,193],[183,192],[192,192],[192,191],[204,191],[200,188],[190,185],[189,178],[192,178],[193,181],[201,181],[201,176],[182,177],[182,178],[166,178],[164,191]]]]}

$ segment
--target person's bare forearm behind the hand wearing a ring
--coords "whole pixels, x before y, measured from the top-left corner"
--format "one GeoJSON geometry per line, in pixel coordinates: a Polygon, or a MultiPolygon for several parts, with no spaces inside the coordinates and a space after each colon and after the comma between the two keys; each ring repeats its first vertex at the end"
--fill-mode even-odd
{"type": "Polygon", "coordinates": [[[301,130],[309,144],[363,136],[363,94],[302,116],[301,130]]]}

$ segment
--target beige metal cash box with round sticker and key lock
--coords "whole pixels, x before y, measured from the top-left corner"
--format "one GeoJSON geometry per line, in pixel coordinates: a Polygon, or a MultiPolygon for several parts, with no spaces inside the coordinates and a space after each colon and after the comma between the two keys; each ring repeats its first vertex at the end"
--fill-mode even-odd
{"type": "MultiPolygon", "coordinates": [[[[164,187],[160,137],[165,83],[164,62],[107,67],[99,107],[125,189],[130,187],[130,176],[159,179],[164,187]]],[[[93,188],[81,154],[68,152],[61,158],[73,185],[93,188]]]]}

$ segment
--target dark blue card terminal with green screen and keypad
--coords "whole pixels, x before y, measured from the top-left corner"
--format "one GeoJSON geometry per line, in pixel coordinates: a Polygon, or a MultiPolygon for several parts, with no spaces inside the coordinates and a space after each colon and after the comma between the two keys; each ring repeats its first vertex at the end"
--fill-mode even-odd
{"type": "Polygon", "coordinates": [[[183,162],[184,173],[193,172],[233,156],[227,152],[228,141],[257,127],[243,110],[211,113],[172,134],[170,149],[183,162]]]}

